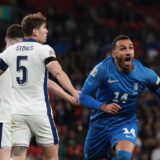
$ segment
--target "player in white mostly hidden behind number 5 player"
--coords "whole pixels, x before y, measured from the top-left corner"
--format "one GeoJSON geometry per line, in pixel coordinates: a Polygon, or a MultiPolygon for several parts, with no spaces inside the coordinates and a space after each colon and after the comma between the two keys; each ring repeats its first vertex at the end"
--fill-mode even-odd
{"type": "MultiPolygon", "coordinates": [[[[6,48],[22,41],[22,27],[13,24],[5,37],[6,48]]],[[[14,103],[9,69],[0,76],[0,160],[9,160],[11,155],[11,112],[14,103]]]]}

